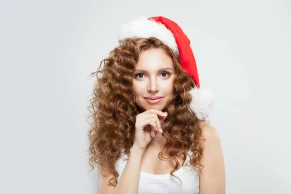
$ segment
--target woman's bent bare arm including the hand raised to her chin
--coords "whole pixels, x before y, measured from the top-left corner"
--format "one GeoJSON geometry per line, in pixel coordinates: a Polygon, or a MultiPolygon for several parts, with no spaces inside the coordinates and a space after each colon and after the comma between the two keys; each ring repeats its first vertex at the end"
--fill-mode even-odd
{"type": "MultiPolygon", "coordinates": [[[[154,138],[153,134],[159,131],[158,128],[161,129],[161,124],[166,115],[162,111],[150,109],[139,113],[136,117],[134,143],[130,148],[129,160],[119,179],[119,183],[114,189],[110,186],[105,186],[108,185],[108,180],[112,176],[102,177],[98,172],[98,194],[137,194],[138,192],[141,163],[146,146],[154,138]],[[151,128],[149,130],[145,129],[146,126],[151,126],[151,128]]],[[[105,162],[102,164],[105,164],[105,162]]]]}

